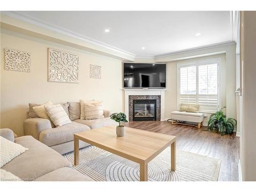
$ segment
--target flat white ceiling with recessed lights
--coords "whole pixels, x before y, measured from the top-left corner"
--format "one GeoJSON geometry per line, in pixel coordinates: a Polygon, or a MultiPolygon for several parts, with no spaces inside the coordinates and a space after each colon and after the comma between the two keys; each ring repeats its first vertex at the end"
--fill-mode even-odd
{"type": "Polygon", "coordinates": [[[45,26],[138,57],[232,40],[230,11],[15,12],[45,26]],[[110,32],[104,32],[105,29],[110,32]],[[201,35],[196,36],[196,33],[201,35]]]}

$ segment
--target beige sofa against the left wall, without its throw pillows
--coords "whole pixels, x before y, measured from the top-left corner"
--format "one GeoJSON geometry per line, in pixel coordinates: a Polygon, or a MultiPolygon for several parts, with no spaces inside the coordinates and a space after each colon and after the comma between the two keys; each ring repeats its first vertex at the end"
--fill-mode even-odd
{"type": "MultiPolygon", "coordinates": [[[[116,124],[110,119],[111,111],[104,110],[101,119],[80,119],[80,102],[68,102],[61,105],[65,109],[72,123],[52,127],[50,120],[36,117],[31,110],[33,105],[30,103],[29,118],[24,122],[25,135],[31,135],[40,142],[50,146],[60,154],[65,154],[74,150],[74,133],[97,129],[98,127],[116,124]]],[[[79,142],[79,147],[89,145],[88,143],[79,142]]]]}

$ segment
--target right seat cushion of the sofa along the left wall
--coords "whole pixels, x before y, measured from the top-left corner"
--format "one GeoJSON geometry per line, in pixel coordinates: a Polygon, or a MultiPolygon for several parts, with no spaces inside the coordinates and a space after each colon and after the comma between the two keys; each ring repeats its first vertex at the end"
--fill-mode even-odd
{"type": "Polygon", "coordinates": [[[92,120],[86,120],[86,119],[76,119],[75,122],[88,125],[91,129],[96,129],[102,126],[108,126],[111,124],[116,124],[116,122],[112,119],[108,118],[102,118],[102,119],[92,119],[92,120]]]}

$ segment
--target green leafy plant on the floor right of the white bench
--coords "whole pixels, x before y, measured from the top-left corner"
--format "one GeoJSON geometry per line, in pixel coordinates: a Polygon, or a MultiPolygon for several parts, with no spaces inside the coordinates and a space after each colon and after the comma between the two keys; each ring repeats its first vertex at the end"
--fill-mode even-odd
{"type": "Polygon", "coordinates": [[[208,130],[212,131],[214,128],[218,132],[221,132],[221,135],[231,134],[234,128],[237,125],[237,120],[233,118],[226,118],[226,115],[223,114],[224,106],[220,111],[211,114],[208,121],[208,130]]]}

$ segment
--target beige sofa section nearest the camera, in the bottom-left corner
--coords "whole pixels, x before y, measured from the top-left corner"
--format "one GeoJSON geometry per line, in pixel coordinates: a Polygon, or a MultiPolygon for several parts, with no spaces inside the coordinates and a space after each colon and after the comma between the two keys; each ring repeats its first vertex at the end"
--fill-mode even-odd
{"type": "Polygon", "coordinates": [[[10,129],[1,129],[0,135],[28,148],[1,167],[24,181],[93,181],[71,168],[67,159],[32,136],[14,139],[10,129]]]}

